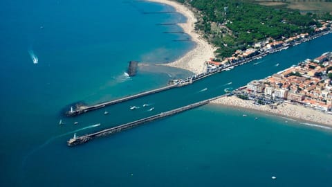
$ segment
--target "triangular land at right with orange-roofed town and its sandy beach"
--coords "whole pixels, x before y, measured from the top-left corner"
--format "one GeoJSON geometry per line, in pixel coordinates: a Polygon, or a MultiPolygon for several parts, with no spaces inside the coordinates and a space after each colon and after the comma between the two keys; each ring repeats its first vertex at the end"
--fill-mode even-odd
{"type": "Polygon", "coordinates": [[[252,80],[212,103],[331,127],[332,53],[307,59],[262,80],[252,80]]]}

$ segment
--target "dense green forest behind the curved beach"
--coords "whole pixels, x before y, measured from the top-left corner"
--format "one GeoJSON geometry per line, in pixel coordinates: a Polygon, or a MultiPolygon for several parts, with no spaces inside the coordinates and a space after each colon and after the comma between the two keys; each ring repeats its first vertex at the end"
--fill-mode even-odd
{"type": "Polygon", "coordinates": [[[229,57],[237,49],[248,48],[268,37],[281,39],[312,33],[317,19],[331,19],[329,13],[300,14],[285,7],[261,6],[243,0],[177,0],[190,4],[198,16],[196,29],[218,47],[217,57],[229,57]]]}

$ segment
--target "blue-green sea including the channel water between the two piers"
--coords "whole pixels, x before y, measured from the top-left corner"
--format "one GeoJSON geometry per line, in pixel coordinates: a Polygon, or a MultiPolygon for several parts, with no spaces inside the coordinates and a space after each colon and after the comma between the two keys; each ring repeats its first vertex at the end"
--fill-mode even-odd
{"type": "Polygon", "coordinates": [[[245,109],[205,105],[66,145],[74,134],[219,96],[332,51],[332,35],[187,87],[67,118],[75,103],[100,103],[192,75],[160,66],[194,48],[183,41],[189,35],[172,33],[182,30],[176,24],[185,17],[170,6],[133,0],[3,0],[0,7],[1,186],[332,186],[330,128],[245,109]],[[131,60],[139,68],[129,78],[131,60]]]}

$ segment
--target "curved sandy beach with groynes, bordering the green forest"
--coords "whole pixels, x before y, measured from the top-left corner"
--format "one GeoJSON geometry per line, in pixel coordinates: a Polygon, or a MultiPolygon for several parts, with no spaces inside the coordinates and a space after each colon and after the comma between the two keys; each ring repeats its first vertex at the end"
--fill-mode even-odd
{"type": "Polygon", "coordinates": [[[192,41],[196,43],[196,46],[189,51],[183,57],[179,58],[175,62],[170,62],[165,64],[167,66],[173,66],[176,68],[186,69],[192,71],[193,73],[203,73],[205,71],[204,62],[210,60],[211,57],[214,57],[214,47],[208,42],[205,42],[201,38],[201,35],[195,32],[194,24],[197,19],[192,12],[186,6],[183,6],[181,3],[176,1],[169,0],[147,0],[156,3],[164,3],[175,8],[176,12],[181,13],[187,17],[187,22],[183,24],[178,24],[183,28],[183,31],[192,37],[192,41]]]}

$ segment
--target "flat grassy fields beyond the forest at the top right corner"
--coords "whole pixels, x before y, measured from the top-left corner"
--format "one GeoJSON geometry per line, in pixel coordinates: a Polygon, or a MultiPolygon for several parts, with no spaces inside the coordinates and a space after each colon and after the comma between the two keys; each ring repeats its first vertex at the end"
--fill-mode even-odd
{"type": "Polygon", "coordinates": [[[311,11],[311,12],[332,12],[332,1],[313,1],[313,0],[254,0],[264,6],[286,6],[287,8],[311,11]]]}

